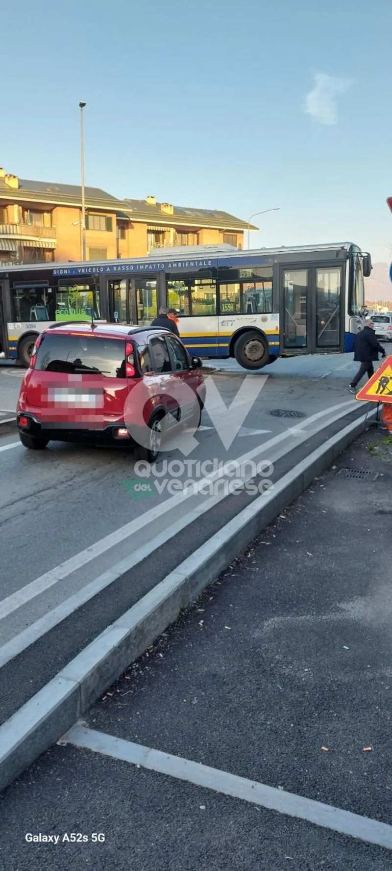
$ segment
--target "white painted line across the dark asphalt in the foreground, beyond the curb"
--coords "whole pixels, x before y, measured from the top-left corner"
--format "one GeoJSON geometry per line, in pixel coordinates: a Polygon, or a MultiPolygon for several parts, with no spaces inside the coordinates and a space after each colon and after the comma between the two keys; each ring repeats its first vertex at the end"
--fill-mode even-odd
{"type": "Polygon", "coordinates": [[[306,820],[316,826],[331,829],[332,832],[392,849],[392,826],[388,823],[352,814],[340,807],[306,799],[302,795],[287,793],[276,787],[268,787],[257,780],[238,777],[236,774],[186,760],[181,756],[173,756],[171,753],[162,753],[160,750],[153,750],[135,744],[133,741],[124,741],[79,724],[73,726],[70,732],[57,743],[81,747],[93,753],[102,753],[103,756],[110,756],[111,759],[129,762],[131,765],[141,766],[149,771],[174,777],[176,780],[185,780],[196,787],[203,787],[215,793],[229,795],[231,798],[249,801],[258,807],[266,807],[279,814],[306,820]]]}

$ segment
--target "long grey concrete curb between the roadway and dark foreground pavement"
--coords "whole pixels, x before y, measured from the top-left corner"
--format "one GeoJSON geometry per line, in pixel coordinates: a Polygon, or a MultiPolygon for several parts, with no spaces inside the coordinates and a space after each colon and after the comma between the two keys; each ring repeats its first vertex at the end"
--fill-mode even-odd
{"type": "Polygon", "coordinates": [[[349,423],[260,496],[103,631],[56,678],[0,726],[0,790],[56,743],[180,612],[226,569],[262,530],[322,475],[375,411],[349,423]]]}

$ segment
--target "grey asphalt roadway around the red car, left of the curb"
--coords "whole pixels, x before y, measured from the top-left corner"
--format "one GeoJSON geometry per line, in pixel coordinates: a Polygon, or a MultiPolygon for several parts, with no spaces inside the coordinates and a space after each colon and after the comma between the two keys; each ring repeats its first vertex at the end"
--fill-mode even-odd
{"type": "MultiPolygon", "coordinates": [[[[189,479],[200,483],[216,468],[199,468],[197,463],[238,458],[275,463],[334,415],[355,408],[345,390],[352,369],[351,358],[322,356],[316,362],[308,357],[277,361],[274,368],[249,378],[243,370],[240,375],[209,376],[211,416],[203,413],[188,463],[179,450],[165,453],[148,491],[136,492],[135,484],[143,485],[145,479],[136,475],[129,453],[54,442],[35,453],[23,449],[17,436],[0,437],[2,644],[136,547],[150,545],[153,550],[156,537],[176,523],[190,523],[195,512],[206,522],[219,496],[211,501],[207,490],[185,498],[172,489],[173,477],[179,482],[175,487],[181,488],[189,479]],[[236,409],[225,412],[233,401],[236,409]],[[271,414],[276,411],[302,416],[271,414]],[[175,459],[180,464],[163,475],[164,464],[175,459]]],[[[12,408],[21,376],[15,368],[0,368],[0,406],[3,402],[12,408]]],[[[176,541],[178,537],[170,546],[176,541]]]]}

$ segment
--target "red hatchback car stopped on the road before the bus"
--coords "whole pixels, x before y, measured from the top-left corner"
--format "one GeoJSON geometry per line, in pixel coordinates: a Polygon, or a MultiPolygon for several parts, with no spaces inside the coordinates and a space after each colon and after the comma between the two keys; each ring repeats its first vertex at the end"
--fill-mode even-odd
{"type": "Polygon", "coordinates": [[[202,361],[156,327],[57,323],[38,337],[17,402],[25,448],[132,443],[153,462],[163,435],[200,425],[202,361]]]}

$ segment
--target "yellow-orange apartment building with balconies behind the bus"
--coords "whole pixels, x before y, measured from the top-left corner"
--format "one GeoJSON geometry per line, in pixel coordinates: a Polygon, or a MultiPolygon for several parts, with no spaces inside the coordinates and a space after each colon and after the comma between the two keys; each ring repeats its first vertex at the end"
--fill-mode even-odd
{"type": "MultiPolygon", "coordinates": [[[[172,206],[153,196],[117,199],[96,187],[85,188],[85,210],[87,260],[144,257],[168,246],[242,248],[248,229],[219,210],[172,206]]],[[[81,187],[19,179],[0,168],[0,265],[82,260],[82,250],[81,187]]]]}

